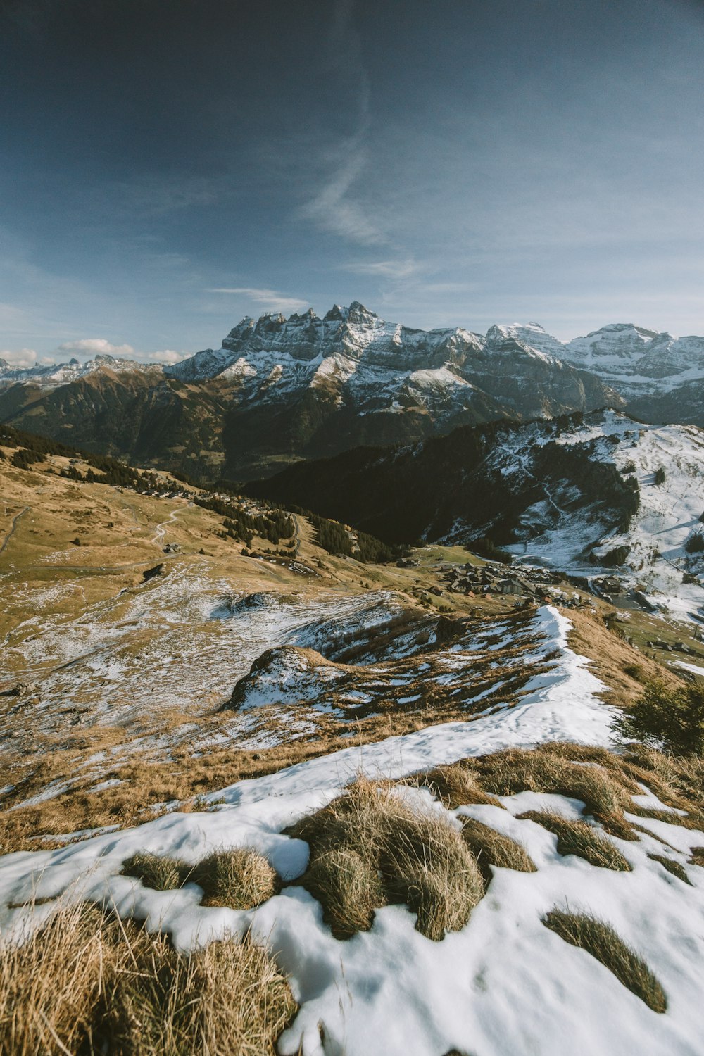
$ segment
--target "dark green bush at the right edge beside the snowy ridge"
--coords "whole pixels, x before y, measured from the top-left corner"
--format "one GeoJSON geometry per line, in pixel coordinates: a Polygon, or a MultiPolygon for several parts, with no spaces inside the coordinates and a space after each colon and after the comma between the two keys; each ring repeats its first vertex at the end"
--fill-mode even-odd
{"type": "Polygon", "coordinates": [[[695,682],[668,686],[660,679],[645,683],[630,711],[615,719],[622,741],[636,740],[674,755],[704,752],[704,686],[695,682]]]}

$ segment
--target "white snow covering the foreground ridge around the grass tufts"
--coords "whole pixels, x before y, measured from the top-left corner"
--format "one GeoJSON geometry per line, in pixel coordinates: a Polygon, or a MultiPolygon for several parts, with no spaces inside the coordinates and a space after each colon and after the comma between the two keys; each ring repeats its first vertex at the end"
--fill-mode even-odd
{"type": "MultiPolygon", "coordinates": [[[[442,1056],[451,1050],[477,1056],[698,1056],[704,1011],[704,870],[688,866],[692,886],[649,860],[668,853],[684,864],[704,833],[639,818],[652,835],[617,841],[631,872],[612,872],[557,854],[555,837],[530,821],[525,795],[505,797],[508,810],[461,807],[525,844],[533,874],[495,869],[489,891],[470,922],[441,942],[415,930],[401,906],[376,913],[368,932],[342,942],[322,922],[320,905],[303,888],[287,887],[255,910],[206,908],[193,884],[178,891],[146,889],[119,875],[136,850],[195,862],[213,848],[250,846],[265,853],[282,876],[294,880],[307,863],[307,845],[282,834],[296,819],[329,802],[360,771],[399,777],[418,769],[508,746],[553,739],[609,744],[611,710],[588,663],[568,646],[569,622],[545,607],[535,616],[535,654],[555,650],[528,694],[511,708],[468,722],[434,725],[306,761],[267,777],[242,781],[211,796],[215,809],[173,813],[138,828],[108,832],[54,851],[0,859],[0,926],[17,935],[35,897],[35,921],[52,899],[108,898],[123,916],[145,919],[191,948],[226,932],[252,935],[275,953],[290,975],[301,1011],[281,1039],[284,1054],[302,1044],[304,1056],[406,1054],[442,1056]],[[11,908],[15,906],[15,908],[11,908]],[[593,958],[567,945],[541,924],[554,906],[595,912],[639,950],[660,979],[668,1011],[647,1008],[593,958]],[[597,1015],[595,1011],[597,1010],[597,1015]],[[324,1039],[324,1040],[322,1040],[324,1039]]],[[[429,793],[418,792],[430,806],[429,793]]],[[[575,803],[563,797],[563,812],[575,803]]],[[[439,804],[437,810],[444,810],[439,804]]]]}

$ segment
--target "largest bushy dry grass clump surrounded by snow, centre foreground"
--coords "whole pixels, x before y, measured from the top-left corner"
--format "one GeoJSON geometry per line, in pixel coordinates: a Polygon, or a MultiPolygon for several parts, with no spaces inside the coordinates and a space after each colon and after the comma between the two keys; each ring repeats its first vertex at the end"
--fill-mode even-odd
{"type": "Polygon", "coordinates": [[[439,941],[464,926],[483,895],[476,860],[451,818],[366,778],[289,834],[310,846],[297,883],[322,903],[340,939],[370,927],[382,905],[405,903],[417,929],[439,941]]]}

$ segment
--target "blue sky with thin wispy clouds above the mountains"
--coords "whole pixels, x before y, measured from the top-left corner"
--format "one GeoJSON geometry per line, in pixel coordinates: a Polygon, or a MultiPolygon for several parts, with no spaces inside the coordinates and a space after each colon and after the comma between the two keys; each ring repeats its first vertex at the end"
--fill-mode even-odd
{"type": "Polygon", "coordinates": [[[695,0],[2,0],[0,357],[704,334],[695,0]]]}

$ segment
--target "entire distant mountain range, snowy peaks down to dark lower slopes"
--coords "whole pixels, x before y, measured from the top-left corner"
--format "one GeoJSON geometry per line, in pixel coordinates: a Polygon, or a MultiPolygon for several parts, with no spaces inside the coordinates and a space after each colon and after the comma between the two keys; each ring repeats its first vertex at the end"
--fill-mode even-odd
{"type": "Polygon", "coordinates": [[[568,343],[535,323],[420,331],[356,301],[322,318],[247,317],[222,347],[173,365],[0,360],[0,421],[206,479],[604,407],[704,425],[704,338],[631,324],[568,343]]]}

